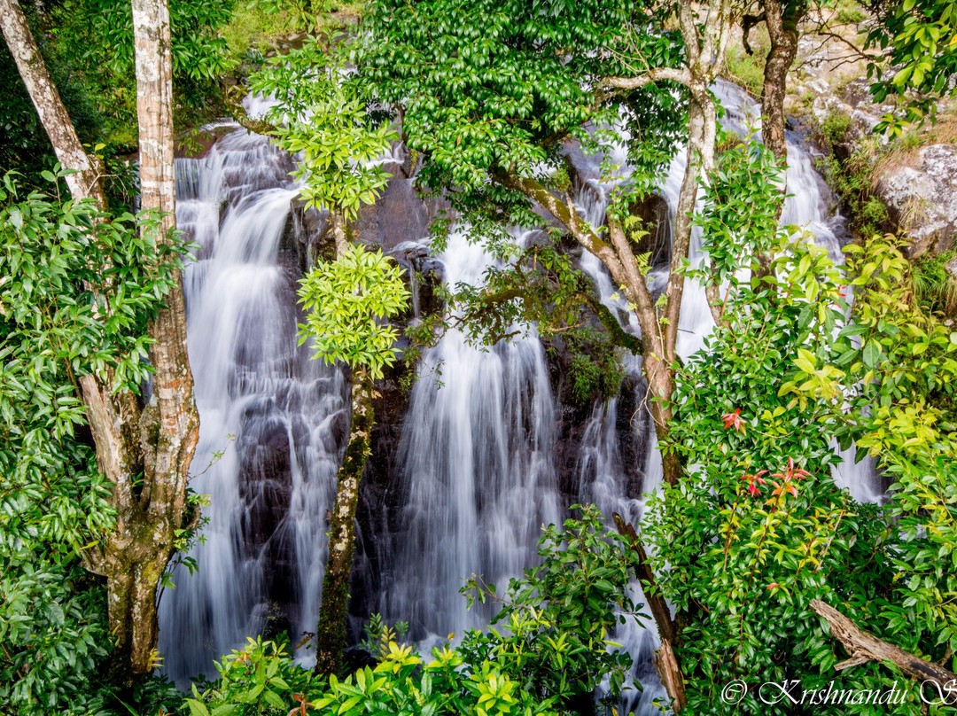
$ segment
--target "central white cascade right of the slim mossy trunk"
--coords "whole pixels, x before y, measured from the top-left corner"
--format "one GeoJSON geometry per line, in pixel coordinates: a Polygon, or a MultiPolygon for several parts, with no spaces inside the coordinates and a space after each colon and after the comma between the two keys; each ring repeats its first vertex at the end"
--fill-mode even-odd
{"type": "MultiPolygon", "coordinates": [[[[450,287],[478,285],[492,263],[456,233],[441,255],[450,287]]],[[[459,593],[476,573],[503,588],[535,558],[541,526],[562,510],[552,465],[554,402],[532,331],[481,349],[450,329],[422,360],[399,446],[403,492],[390,620],[416,639],[444,639],[488,621],[459,593]]]]}

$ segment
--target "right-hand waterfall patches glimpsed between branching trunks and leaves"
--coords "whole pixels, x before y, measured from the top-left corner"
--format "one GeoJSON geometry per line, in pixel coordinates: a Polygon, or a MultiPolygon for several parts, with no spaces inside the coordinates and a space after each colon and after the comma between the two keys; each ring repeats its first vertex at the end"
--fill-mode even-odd
{"type": "MultiPolygon", "coordinates": [[[[725,110],[723,124],[726,128],[744,134],[748,125],[760,127],[760,123],[756,120],[760,116],[758,107],[743,90],[727,82],[719,82],[714,89],[725,110]]],[[[802,146],[789,143],[788,160],[790,195],[782,213],[782,224],[806,228],[814,236],[815,241],[828,250],[832,258],[841,260],[839,236],[843,232],[843,220],[840,216],[829,215],[834,203],[831,200],[830,189],[814,170],[812,157],[802,146]]],[[[586,169],[580,171],[585,184],[579,188],[575,203],[580,213],[586,216],[593,226],[600,226],[604,223],[609,191],[622,179],[603,183],[597,160],[580,161],[586,169]]],[[[669,224],[677,211],[685,162],[686,153],[684,149],[680,149],[661,187],[661,194],[668,204],[669,224]]],[[[624,178],[627,178],[627,173],[624,178]]],[[[696,229],[691,238],[689,260],[694,266],[699,264],[703,257],[701,231],[696,229]]],[[[612,313],[619,318],[623,327],[634,335],[639,335],[640,330],[634,314],[625,310],[617,288],[612,284],[607,271],[598,259],[586,252],[582,257],[581,267],[595,281],[602,302],[612,309],[612,313]]],[[[653,266],[648,278],[653,291],[663,288],[667,279],[667,267],[653,266]]],[[[686,280],[679,321],[679,355],[686,358],[701,349],[703,339],[713,328],[714,321],[708,309],[703,288],[696,281],[686,280]]],[[[643,390],[639,375],[640,359],[628,356],[625,360],[626,373],[636,379],[638,390],[643,390]]],[[[639,395],[637,398],[639,410],[648,412],[643,396],[639,395]]],[[[632,417],[633,429],[647,430],[650,435],[646,439],[653,446],[653,449],[648,451],[641,492],[634,493],[627,489],[628,481],[619,456],[616,411],[617,398],[597,401],[592,409],[579,460],[580,494],[583,500],[596,503],[606,517],[610,517],[612,512],[618,512],[627,521],[639,525],[644,512],[644,501],[639,495],[654,492],[661,482],[660,458],[657,449],[654,449],[657,445],[654,426],[650,419],[639,420],[635,416],[632,417]]],[[[878,499],[878,491],[874,486],[873,460],[865,459],[855,463],[853,447],[842,452],[841,457],[844,461],[835,466],[835,479],[838,483],[848,487],[857,500],[870,502],[878,499]]],[[[635,593],[640,593],[636,584],[633,585],[633,590],[635,593]]],[[[632,654],[636,664],[634,679],[645,686],[645,693],[641,695],[641,698],[629,700],[624,710],[636,709],[637,712],[643,713],[652,695],[662,694],[657,675],[647,668],[647,660],[651,652],[657,648],[657,636],[652,629],[645,630],[643,625],[630,623],[628,628],[616,634],[614,638],[632,654]]]]}

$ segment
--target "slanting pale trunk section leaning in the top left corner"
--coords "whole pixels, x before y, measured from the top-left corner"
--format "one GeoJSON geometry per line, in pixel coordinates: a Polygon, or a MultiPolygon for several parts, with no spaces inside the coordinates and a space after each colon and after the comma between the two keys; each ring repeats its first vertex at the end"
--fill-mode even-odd
{"type": "Polygon", "coordinates": [[[17,0],[0,0],[0,29],[3,30],[10,54],[27,87],[40,123],[54,145],[57,161],[63,168],[76,171],[66,177],[70,193],[77,200],[93,199],[100,210],[105,210],[106,199],[100,181],[99,162],[87,156],[83,145],[79,143],[77,131],[60,100],[17,0]]]}

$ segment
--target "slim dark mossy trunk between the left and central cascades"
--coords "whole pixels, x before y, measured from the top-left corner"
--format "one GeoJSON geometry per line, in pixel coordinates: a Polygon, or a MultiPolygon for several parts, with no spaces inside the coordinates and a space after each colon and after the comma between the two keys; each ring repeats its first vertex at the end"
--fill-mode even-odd
{"type": "Polygon", "coordinates": [[[371,453],[374,424],[372,379],[365,369],[352,371],[352,427],[345,459],[339,468],[336,505],[329,526],[329,554],[323,575],[323,600],[316,629],[316,673],[337,674],[345,652],[345,620],[349,602],[349,576],[355,549],[356,506],[359,483],[371,453]]]}

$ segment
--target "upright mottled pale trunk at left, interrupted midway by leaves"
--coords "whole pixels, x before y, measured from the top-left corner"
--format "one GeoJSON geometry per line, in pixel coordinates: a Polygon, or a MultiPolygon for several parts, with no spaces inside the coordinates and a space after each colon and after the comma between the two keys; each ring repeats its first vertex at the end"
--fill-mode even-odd
{"type": "MultiPolygon", "coordinates": [[[[157,240],[170,240],[175,226],[173,173],[172,57],[166,0],[133,0],[137,120],[140,129],[140,190],[145,211],[162,213],[157,240]]],[[[110,628],[117,640],[115,663],[133,674],[148,672],[156,648],[156,588],[174,551],[176,530],[190,519],[187,504],[189,463],[199,431],[193,401],[186,334],[186,306],[180,277],[166,297],[167,307],[149,325],[155,371],[150,405],[137,438],[143,451],[143,487],[138,495],[127,482],[118,497],[124,529],[103,548],[110,628]]]]}

